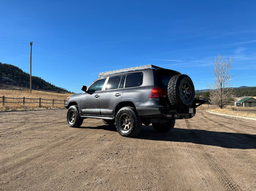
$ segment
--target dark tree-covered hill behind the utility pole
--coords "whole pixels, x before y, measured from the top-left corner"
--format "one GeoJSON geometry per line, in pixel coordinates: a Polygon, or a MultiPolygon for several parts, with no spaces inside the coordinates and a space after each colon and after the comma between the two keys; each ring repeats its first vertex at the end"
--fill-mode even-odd
{"type": "MultiPolygon", "coordinates": [[[[0,88],[11,86],[29,88],[29,82],[30,74],[22,71],[17,66],[13,66],[11,64],[2,64],[0,62],[0,88]]],[[[69,92],[64,88],[56,87],[55,85],[36,76],[32,76],[32,89],[56,92],[69,92]]]]}

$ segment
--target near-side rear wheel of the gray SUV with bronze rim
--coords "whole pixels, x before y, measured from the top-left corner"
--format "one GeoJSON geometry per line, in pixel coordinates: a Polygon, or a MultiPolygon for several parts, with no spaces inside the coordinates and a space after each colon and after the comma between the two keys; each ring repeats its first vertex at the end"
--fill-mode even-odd
{"type": "Polygon", "coordinates": [[[123,137],[135,137],[141,131],[142,122],[133,107],[121,108],[115,118],[116,130],[123,137]]]}

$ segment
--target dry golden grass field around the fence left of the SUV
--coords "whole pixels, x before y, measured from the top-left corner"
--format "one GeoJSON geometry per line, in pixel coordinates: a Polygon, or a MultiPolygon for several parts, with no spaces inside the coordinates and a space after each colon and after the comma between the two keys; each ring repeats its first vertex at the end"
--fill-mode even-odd
{"type": "Polygon", "coordinates": [[[64,100],[67,101],[67,97],[71,93],[55,93],[32,90],[30,93],[27,90],[0,90],[0,111],[22,111],[22,110],[42,110],[42,109],[52,109],[52,108],[64,108],[64,100]],[[5,97],[5,104],[2,104],[2,97],[5,97]],[[23,97],[25,97],[25,104],[23,105],[23,97]],[[8,98],[16,98],[8,99],[8,98]],[[19,98],[19,99],[17,99],[19,98]],[[44,99],[41,100],[41,107],[39,108],[39,100],[27,100],[29,99],[44,99]],[[54,99],[54,106],[52,104],[54,99]],[[46,101],[47,100],[47,101],[46,101]],[[15,103],[7,103],[15,102],[15,103]],[[21,102],[21,103],[19,103],[21,102]],[[37,103],[33,103],[37,102],[37,103]],[[44,102],[44,103],[43,103],[44,102]]]}

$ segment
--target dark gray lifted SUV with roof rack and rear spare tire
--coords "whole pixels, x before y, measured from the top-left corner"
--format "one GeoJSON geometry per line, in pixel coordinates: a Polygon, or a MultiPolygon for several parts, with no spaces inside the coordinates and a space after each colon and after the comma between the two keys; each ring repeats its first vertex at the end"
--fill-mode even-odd
{"type": "Polygon", "coordinates": [[[189,76],[153,65],[101,72],[81,90],[67,98],[67,124],[80,127],[86,118],[102,119],[115,123],[124,137],[137,136],[142,123],[167,132],[176,119],[194,117],[205,102],[195,99],[189,76]]]}

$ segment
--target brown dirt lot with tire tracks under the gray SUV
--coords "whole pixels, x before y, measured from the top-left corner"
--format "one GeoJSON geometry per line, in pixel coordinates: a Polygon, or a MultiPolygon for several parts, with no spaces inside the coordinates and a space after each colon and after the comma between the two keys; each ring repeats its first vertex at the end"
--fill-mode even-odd
{"type": "Polygon", "coordinates": [[[255,191],[255,121],[198,110],[173,131],[124,138],[67,110],[0,113],[3,191],[255,191]]]}

